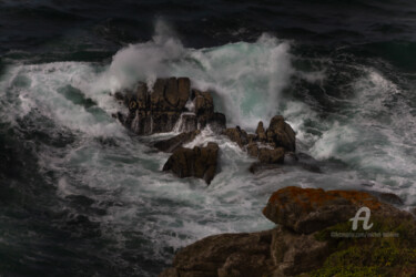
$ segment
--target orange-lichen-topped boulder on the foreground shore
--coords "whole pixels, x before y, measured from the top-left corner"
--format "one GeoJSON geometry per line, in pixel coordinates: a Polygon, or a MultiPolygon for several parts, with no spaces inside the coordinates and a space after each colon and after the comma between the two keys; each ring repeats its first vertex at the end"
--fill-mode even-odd
{"type": "Polygon", "coordinates": [[[296,233],[311,234],[354,217],[359,207],[368,207],[375,216],[408,216],[377,197],[356,191],[328,191],[290,186],[275,192],[263,214],[270,220],[296,233]]]}

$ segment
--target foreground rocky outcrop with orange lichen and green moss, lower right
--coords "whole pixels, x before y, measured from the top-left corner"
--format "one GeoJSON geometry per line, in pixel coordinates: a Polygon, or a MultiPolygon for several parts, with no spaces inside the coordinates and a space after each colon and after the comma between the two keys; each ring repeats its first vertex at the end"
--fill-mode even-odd
{"type": "Polygon", "coordinates": [[[345,270],[357,276],[416,273],[412,263],[403,264],[403,260],[416,261],[416,257],[409,255],[416,247],[414,217],[365,192],[285,187],[271,196],[263,213],[280,225],[265,232],[203,238],[177,252],[172,267],[160,276],[297,276],[305,273],[305,276],[338,276],[345,270]],[[334,237],[334,230],[352,232],[349,218],[362,206],[372,211],[375,234],[396,228],[404,238],[395,240],[371,235],[362,240],[343,240],[334,237]],[[369,258],[373,255],[375,258],[369,258]]]}

